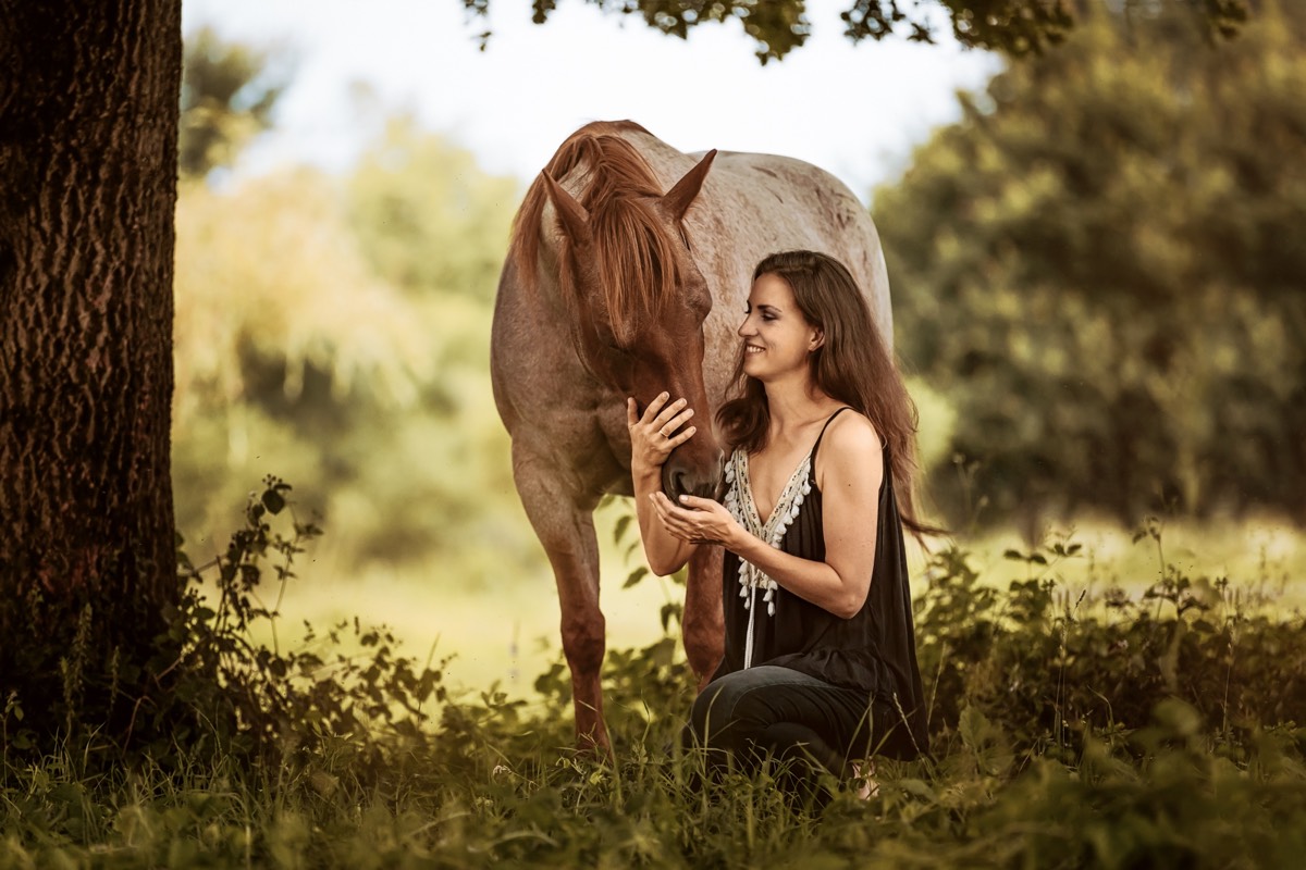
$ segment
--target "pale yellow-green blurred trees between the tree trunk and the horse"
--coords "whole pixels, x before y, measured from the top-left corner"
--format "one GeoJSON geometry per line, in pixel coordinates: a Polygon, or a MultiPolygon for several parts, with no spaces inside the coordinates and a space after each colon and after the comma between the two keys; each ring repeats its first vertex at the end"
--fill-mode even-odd
{"type": "Polygon", "coordinates": [[[398,116],[343,176],[214,184],[273,121],[289,80],[269,70],[287,67],[210,31],[187,51],[174,483],[192,556],[276,473],[341,570],[438,565],[474,588],[542,565],[487,367],[517,183],[398,116]]]}

